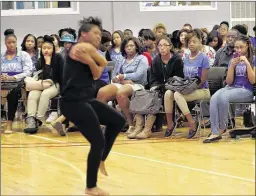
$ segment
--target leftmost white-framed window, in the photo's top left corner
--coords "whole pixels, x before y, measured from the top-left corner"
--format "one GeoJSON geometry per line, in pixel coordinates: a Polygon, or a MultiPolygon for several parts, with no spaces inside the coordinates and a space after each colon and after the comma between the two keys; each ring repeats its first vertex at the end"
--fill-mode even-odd
{"type": "Polygon", "coordinates": [[[71,1],[2,1],[1,16],[79,14],[79,3],[71,1]]]}

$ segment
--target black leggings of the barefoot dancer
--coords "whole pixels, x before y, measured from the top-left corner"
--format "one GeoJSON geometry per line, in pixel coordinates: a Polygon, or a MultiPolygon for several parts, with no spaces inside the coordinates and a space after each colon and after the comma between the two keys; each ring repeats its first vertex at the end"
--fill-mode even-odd
{"type": "Polygon", "coordinates": [[[105,161],[125,124],[125,118],[112,107],[97,100],[65,101],[60,108],[91,144],[87,159],[87,188],[96,187],[100,161],[105,161]],[[105,135],[100,125],[106,125],[105,135]]]}

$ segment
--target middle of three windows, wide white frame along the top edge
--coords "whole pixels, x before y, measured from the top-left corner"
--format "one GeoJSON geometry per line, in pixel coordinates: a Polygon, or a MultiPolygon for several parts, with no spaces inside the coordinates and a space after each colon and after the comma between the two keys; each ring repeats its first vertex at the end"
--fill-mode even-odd
{"type": "Polygon", "coordinates": [[[140,11],[216,10],[217,2],[211,1],[150,1],[140,2],[140,11]]]}

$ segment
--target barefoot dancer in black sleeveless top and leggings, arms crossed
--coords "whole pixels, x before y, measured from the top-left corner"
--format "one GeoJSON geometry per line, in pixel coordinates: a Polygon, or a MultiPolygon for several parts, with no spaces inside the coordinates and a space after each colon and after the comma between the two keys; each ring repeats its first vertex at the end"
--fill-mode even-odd
{"type": "Polygon", "coordinates": [[[84,18],[80,21],[78,43],[73,45],[66,58],[60,108],[90,142],[87,161],[87,195],[108,195],[97,187],[98,169],[107,175],[105,160],[114,141],[125,124],[125,118],[115,109],[95,97],[95,84],[107,61],[97,49],[101,42],[101,21],[84,18]],[[100,125],[105,125],[103,134],[100,125]]]}

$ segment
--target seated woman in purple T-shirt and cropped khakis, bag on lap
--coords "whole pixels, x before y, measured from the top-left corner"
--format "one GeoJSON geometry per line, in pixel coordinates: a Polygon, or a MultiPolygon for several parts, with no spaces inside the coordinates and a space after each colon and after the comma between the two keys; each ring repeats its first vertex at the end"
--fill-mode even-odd
{"type": "Polygon", "coordinates": [[[175,123],[173,123],[173,102],[176,101],[182,114],[186,117],[189,123],[189,133],[187,138],[193,138],[198,130],[198,122],[195,122],[189,111],[187,102],[209,99],[210,91],[207,82],[209,59],[208,57],[200,52],[202,47],[201,38],[196,31],[189,33],[186,36],[186,44],[190,50],[190,55],[184,60],[184,76],[185,78],[199,77],[201,83],[197,90],[188,95],[182,95],[179,92],[172,92],[167,90],[164,96],[164,107],[167,118],[167,130],[165,137],[172,135],[175,123]]]}

